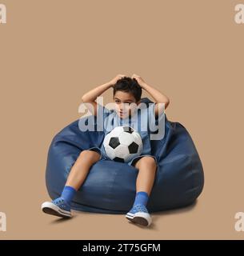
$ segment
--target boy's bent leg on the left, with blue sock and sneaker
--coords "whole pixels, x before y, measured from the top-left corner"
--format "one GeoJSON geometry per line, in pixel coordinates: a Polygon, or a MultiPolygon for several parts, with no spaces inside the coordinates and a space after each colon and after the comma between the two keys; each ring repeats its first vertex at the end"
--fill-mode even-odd
{"type": "Polygon", "coordinates": [[[71,217],[70,202],[76,191],[85,181],[90,167],[95,162],[98,162],[99,159],[100,154],[98,152],[93,150],[83,150],[70,170],[61,197],[56,198],[52,202],[44,202],[42,204],[42,211],[46,214],[53,214],[59,217],[71,217]]]}

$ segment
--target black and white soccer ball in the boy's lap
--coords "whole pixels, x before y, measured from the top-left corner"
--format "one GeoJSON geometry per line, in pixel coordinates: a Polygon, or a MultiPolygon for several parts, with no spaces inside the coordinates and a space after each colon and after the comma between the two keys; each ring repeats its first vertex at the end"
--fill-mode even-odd
{"type": "Polygon", "coordinates": [[[117,162],[130,162],[142,153],[142,138],[130,126],[117,126],[106,134],[103,146],[107,156],[117,162]]]}

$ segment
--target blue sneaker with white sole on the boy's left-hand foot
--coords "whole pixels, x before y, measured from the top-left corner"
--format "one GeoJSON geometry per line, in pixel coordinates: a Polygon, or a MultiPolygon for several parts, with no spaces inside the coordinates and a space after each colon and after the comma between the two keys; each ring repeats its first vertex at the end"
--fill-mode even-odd
{"type": "Polygon", "coordinates": [[[52,202],[43,202],[42,211],[46,214],[56,215],[58,217],[71,217],[70,205],[64,198],[56,198],[52,202]]]}

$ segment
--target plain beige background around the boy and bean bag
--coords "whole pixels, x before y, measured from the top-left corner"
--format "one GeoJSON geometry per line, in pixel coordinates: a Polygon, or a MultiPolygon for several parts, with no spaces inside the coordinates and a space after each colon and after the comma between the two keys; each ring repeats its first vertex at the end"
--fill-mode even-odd
{"type": "Polygon", "coordinates": [[[244,24],[234,6],[244,1],[0,2],[0,239],[244,238],[234,230],[244,211],[244,24]],[[197,204],[152,214],[150,229],[124,215],[42,214],[54,134],[81,116],[87,90],[134,73],[169,96],[167,117],[194,139],[206,178],[197,204]]]}

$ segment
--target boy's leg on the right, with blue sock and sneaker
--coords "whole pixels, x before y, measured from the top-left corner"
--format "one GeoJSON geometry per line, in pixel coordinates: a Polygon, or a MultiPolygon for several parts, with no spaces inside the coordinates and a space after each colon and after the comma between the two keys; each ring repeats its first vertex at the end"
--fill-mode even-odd
{"type": "Polygon", "coordinates": [[[136,197],[134,205],[126,218],[143,226],[150,226],[151,218],[146,209],[146,204],[154,186],[154,178],[157,170],[157,164],[153,157],[143,157],[136,162],[135,167],[138,169],[136,181],[136,197]]]}

